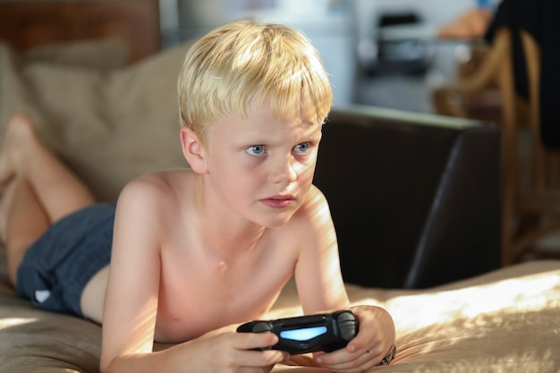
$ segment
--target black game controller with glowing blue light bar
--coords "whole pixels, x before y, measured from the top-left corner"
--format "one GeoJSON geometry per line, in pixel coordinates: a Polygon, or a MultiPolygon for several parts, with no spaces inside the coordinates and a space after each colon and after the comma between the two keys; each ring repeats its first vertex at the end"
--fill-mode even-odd
{"type": "Polygon", "coordinates": [[[278,343],[259,350],[280,350],[293,355],[333,352],[344,348],[358,334],[358,319],[350,310],[332,313],[250,321],[237,328],[242,333],[274,333],[278,343]]]}

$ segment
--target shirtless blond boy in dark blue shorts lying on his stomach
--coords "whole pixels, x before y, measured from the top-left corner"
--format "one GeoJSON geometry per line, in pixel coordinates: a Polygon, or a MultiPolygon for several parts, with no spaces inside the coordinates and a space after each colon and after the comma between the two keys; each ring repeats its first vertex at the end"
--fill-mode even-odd
{"type": "MultiPolygon", "coordinates": [[[[191,47],[178,91],[191,169],[140,176],[116,208],[94,204],[30,121],[13,118],[0,156],[10,276],[39,306],[103,324],[102,372],[268,371],[289,356],[254,349],[276,335],[234,330],[265,318],[291,276],[305,313],[348,307],[311,183],[327,73],[296,31],[238,21],[191,47]],[[154,352],[154,341],[174,346],[154,352]]],[[[314,365],[362,372],[394,354],[387,312],[353,310],[359,335],[314,365]]]]}

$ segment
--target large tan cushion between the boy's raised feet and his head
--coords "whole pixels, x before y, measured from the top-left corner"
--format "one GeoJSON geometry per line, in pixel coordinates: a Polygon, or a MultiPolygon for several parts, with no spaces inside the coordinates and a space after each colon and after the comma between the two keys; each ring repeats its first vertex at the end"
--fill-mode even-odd
{"type": "Polygon", "coordinates": [[[98,198],[115,199],[139,174],[186,165],[176,81],[188,47],[106,70],[42,58],[16,64],[18,56],[0,44],[0,123],[30,114],[39,136],[98,198]]]}

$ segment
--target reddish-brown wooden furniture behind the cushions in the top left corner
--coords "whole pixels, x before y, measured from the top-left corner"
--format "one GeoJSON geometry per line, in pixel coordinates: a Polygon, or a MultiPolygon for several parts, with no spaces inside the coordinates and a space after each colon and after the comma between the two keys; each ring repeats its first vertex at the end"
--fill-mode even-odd
{"type": "Polygon", "coordinates": [[[0,1],[0,39],[16,50],[107,37],[128,42],[131,63],[159,51],[158,1],[0,1]]]}

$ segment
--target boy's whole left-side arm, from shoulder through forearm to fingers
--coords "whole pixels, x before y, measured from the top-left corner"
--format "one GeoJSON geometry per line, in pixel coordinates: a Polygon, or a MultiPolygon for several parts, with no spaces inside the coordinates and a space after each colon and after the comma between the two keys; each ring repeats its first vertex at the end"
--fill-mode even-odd
{"type": "MultiPolygon", "coordinates": [[[[165,221],[157,216],[157,182],[128,184],[117,203],[113,255],[106,292],[100,368],[107,372],[225,371],[256,367],[263,372],[287,358],[284,352],[250,351],[277,342],[272,334],[219,330],[153,352],[160,278],[160,242],[165,221]]],[[[159,203],[157,203],[159,202],[159,203]]]]}

